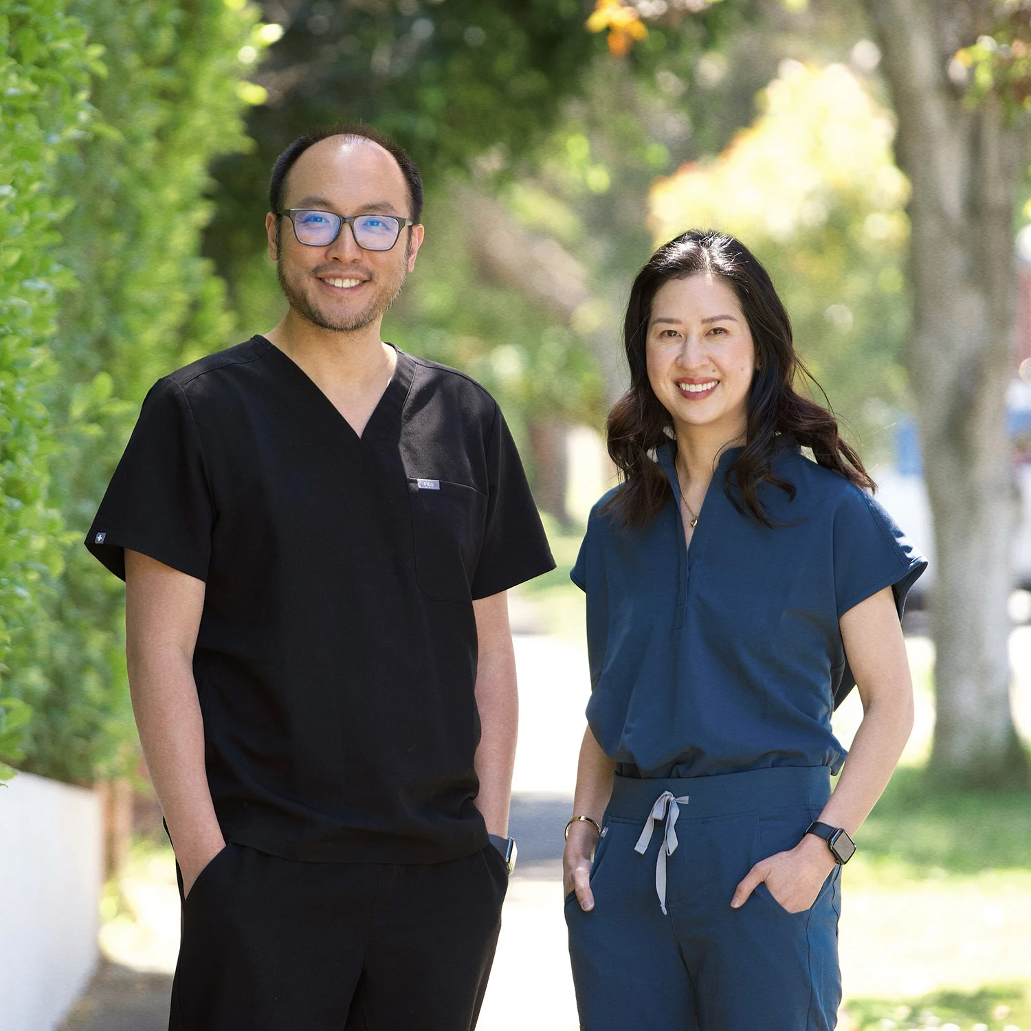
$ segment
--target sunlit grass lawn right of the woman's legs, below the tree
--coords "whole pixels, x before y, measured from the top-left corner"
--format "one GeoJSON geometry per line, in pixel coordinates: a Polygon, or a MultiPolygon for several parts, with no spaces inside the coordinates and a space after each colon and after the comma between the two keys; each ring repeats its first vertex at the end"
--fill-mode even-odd
{"type": "Polygon", "coordinates": [[[1031,1029],[1031,798],[900,767],[844,871],[842,1027],[1031,1029]]]}

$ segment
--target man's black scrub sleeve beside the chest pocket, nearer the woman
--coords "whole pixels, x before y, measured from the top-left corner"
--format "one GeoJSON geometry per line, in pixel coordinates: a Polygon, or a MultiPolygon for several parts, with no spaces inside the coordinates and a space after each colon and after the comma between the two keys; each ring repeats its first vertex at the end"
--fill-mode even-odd
{"type": "Polygon", "coordinates": [[[472,597],[488,598],[555,568],[516,441],[495,406],[487,451],[487,523],[472,597]]]}

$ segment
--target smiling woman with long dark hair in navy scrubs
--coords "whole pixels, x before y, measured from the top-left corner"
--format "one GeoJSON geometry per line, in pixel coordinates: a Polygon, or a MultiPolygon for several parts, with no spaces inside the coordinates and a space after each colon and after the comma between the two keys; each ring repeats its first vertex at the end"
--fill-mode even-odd
{"type": "Polygon", "coordinates": [[[912,727],[900,618],[927,564],[796,392],[788,314],[739,241],[661,247],[625,346],[622,484],[572,571],[593,689],[564,857],[580,1027],[831,1029],[840,868],[912,727]],[[845,762],[831,713],[854,684],[845,762]]]}

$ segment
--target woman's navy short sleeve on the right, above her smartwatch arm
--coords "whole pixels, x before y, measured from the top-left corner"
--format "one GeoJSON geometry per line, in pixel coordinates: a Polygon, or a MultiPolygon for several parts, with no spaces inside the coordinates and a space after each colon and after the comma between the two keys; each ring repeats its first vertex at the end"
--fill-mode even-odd
{"type": "Polygon", "coordinates": [[[927,560],[868,494],[850,491],[834,516],[834,598],[838,619],[886,587],[899,619],[927,560]]]}

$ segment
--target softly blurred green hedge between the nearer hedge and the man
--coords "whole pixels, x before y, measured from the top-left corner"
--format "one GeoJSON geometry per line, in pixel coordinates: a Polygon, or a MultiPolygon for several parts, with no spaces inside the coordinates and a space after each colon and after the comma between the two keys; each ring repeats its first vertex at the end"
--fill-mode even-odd
{"type": "MultiPolygon", "coordinates": [[[[159,376],[234,341],[225,290],[200,257],[207,167],[245,148],[244,81],[264,45],[242,0],[77,0],[103,47],[97,123],[62,157],[75,199],[62,256],[77,286],[53,341],[47,406],[60,448],[52,499],[72,543],[66,568],[11,663],[33,707],[22,768],[70,781],[118,775],[137,755],[125,671],[124,590],[81,546],[159,376]]],[[[260,229],[260,227],[259,227],[260,229]]]]}

